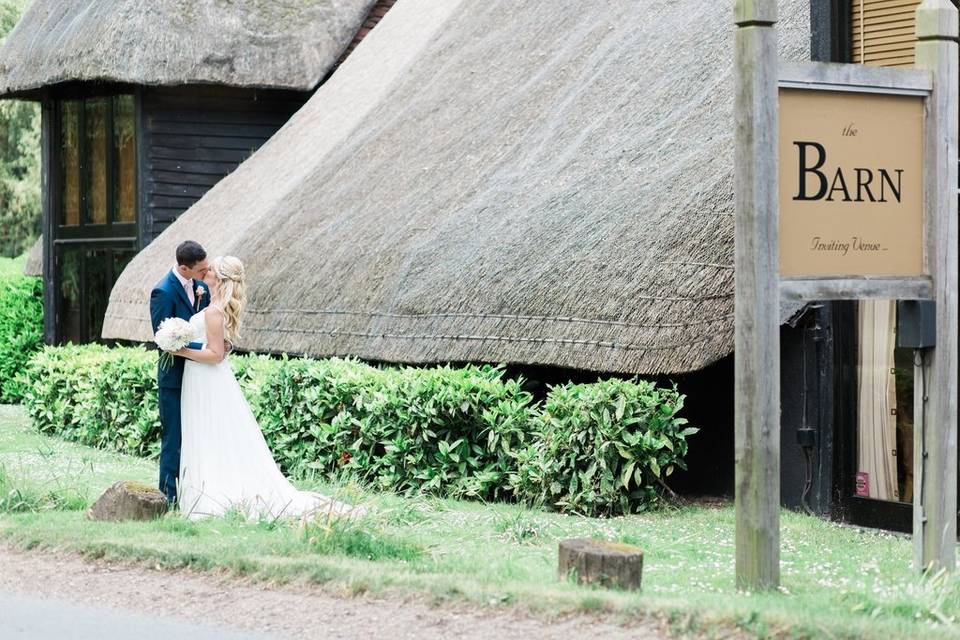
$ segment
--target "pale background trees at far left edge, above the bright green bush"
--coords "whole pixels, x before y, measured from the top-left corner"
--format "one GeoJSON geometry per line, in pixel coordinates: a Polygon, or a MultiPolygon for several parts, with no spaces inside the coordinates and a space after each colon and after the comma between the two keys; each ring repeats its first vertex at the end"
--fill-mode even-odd
{"type": "MultiPolygon", "coordinates": [[[[0,0],[0,44],[29,0],[0,0]]],[[[40,107],[0,100],[0,255],[18,256],[40,235],[40,107]]]]}

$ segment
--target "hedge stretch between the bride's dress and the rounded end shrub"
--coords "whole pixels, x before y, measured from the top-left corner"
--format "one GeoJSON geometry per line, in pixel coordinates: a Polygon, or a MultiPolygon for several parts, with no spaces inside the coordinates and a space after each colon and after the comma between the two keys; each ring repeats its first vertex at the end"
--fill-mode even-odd
{"type": "Polygon", "coordinates": [[[284,360],[258,385],[254,411],[287,472],[342,471],[407,494],[505,497],[531,417],[530,395],[494,367],[284,360]]]}

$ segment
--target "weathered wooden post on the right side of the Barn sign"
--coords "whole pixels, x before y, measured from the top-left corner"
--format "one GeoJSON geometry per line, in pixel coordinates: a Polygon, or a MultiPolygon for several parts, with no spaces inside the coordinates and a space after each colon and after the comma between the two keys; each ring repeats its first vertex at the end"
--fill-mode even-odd
{"type": "Polygon", "coordinates": [[[913,503],[914,565],[951,571],[957,542],[957,9],[949,0],[924,0],[916,20],[916,66],[933,73],[924,140],[924,208],[937,342],[928,350],[927,400],[923,421],[915,428],[920,482],[914,485],[919,488],[913,503]]]}

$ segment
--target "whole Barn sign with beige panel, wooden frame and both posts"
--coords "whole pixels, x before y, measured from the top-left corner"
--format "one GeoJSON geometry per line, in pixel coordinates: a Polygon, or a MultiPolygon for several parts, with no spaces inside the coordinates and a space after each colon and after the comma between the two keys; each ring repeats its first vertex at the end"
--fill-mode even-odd
{"type": "Polygon", "coordinates": [[[958,12],[917,9],[917,69],[779,63],[776,0],[736,0],[737,586],[779,584],[781,299],[933,300],[916,401],[915,564],[955,566],[958,12]]]}

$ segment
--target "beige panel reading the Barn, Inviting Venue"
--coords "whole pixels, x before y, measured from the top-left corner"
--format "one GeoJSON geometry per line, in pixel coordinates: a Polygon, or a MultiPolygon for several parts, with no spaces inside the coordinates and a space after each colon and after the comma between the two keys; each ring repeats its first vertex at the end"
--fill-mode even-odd
{"type": "Polygon", "coordinates": [[[780,277],[923,274],[923,98],[780,90],[780,277]]]}

